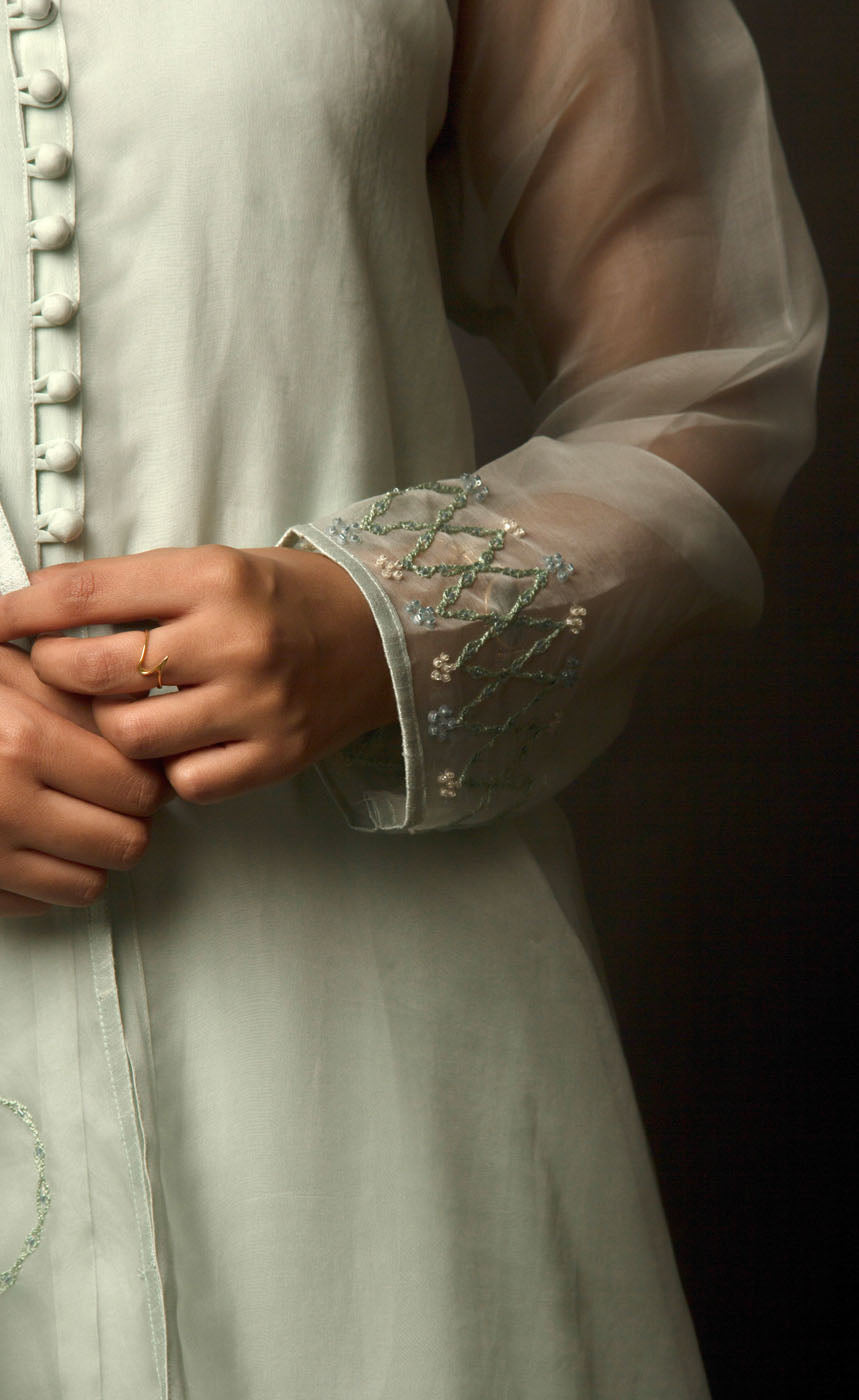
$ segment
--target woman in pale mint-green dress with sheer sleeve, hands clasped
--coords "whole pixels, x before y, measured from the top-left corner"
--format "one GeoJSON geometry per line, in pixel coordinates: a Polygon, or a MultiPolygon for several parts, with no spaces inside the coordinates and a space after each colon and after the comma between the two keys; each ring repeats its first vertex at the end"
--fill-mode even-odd
{"type": "Polygon", "coordinates": [[[0,1393],[705,1394],[551,795],[811,440],[744,29],[7,25],[0,1393]],[[537,399],[480,472],[445,309],[537,399]]]}

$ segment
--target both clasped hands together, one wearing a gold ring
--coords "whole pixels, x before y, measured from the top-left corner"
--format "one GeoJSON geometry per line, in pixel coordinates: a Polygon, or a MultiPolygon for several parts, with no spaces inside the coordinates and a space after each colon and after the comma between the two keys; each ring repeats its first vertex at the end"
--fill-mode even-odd
{"type": "Polygon", "coordinates": [[[0,914],[91,903],[106,869],[141,857],[171,788],[217,802],[396,717],[361,591],[305,550],[201,546],[45,568],[0,598],[0,643],[27,636],[29,661],[3,648],[0,668],[0,914]],[[94,623],[139,629],[55,636],[94,623]],[[175,692],[150,696],[137,671],[144,624],[175,692]]]}

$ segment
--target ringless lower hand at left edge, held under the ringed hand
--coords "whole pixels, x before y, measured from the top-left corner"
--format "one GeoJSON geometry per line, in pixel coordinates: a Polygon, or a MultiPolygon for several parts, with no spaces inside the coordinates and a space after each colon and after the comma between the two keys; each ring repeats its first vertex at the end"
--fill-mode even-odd
{"type": "Polygon", "coordinates": [[[0,917],[91,904],[108,871],[137,864],[169,794],[159,767],[95,732],[88,700],[0,647],[0,917]]]}

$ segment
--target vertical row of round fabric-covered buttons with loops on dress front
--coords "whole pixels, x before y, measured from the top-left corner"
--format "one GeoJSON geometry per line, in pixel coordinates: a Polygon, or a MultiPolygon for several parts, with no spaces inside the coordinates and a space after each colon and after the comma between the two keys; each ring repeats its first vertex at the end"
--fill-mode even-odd
{"type": "Polygon", "coordinates": [[[34,406],[34,514],[50,561],[84,528],[81,374],[69,64],[55,0],[6,0],[27,171],[34,406]],[[56,549],[56,546],[60,546],[56,549]]]}

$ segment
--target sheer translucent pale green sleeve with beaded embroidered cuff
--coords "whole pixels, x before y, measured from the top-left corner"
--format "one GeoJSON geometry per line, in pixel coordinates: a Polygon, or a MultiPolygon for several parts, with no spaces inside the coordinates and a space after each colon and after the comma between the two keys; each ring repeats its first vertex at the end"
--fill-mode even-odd
{"type": "Polygon", "coordinates": [[[399,728],[323,764],[371,829],[548,797],[655,652],[754,622],[825,330],[730,4],[460,0],[455,20],[430,160],[445,295],[518,368],[536,428],[285,538],[344,564],[382,631],[399,728]]]}

